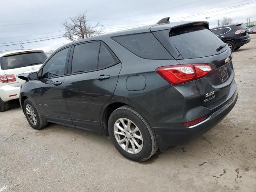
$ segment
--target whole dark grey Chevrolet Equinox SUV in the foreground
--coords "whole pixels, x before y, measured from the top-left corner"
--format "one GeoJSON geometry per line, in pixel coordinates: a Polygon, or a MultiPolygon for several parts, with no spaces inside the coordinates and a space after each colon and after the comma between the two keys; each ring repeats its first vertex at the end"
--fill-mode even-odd
{"type": "Polygon", "coordinates": [[[28,80],[20,105],[32,128],[104,134],[139,162],[208,131],[238,98],[231,50],[208,22],[169,18],[72,42],[19,77],[28,80]]]}

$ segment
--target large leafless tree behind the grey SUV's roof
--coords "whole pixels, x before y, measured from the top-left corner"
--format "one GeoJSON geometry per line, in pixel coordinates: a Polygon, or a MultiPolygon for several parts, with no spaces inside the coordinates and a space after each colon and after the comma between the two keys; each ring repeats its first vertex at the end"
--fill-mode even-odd
{"type": "Polygon", "coordinates": [[[100,25],[99,22],[94,26],[90,25],[86,20],[86,12],[66,19],[62,23],[62,27],[64,32],[60,32],[61,35],[71,41],[99,35],[103,29],[103,25],[100,25]]]}

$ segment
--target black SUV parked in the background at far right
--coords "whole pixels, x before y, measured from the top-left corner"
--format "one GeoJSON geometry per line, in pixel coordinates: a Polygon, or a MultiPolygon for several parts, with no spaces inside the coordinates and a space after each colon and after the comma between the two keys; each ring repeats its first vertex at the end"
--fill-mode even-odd
{"type": "Polygon", "coordinates": [[[250,36],[242,23],[219,26],[211,30],[224,43],[228,44],[232,51],[238,50],[241,46],[250,42],[250,36]]]}

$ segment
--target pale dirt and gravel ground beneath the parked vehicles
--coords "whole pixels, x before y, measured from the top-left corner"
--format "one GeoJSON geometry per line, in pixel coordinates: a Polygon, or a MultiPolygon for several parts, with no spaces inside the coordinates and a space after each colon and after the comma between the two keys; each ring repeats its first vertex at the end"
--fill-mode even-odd
{"type": "Polygon", "coordinates": [[[256,34],[233,63],[239,95],[230,114],[143,163],[102,135],[56,124],[34,130],[12,102],[0,113],[0,192],[256,192],[256,34]]]}

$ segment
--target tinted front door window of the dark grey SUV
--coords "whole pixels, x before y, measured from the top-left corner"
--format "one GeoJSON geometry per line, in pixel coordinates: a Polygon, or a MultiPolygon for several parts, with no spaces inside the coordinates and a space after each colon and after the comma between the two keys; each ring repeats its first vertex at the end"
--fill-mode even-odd
{"type": "Polygon", "coordinates": [[[47,61],[43,68],[42,78],[50,78],[64,75],[68,48],[63,49],[47,61]]]}

